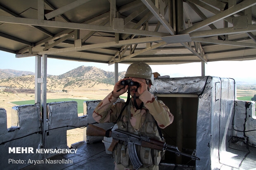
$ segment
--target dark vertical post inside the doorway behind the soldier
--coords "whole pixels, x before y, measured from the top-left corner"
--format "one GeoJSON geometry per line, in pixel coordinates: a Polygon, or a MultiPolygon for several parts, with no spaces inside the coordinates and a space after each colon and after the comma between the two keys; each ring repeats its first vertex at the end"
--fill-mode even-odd
{"type": "MultiPolygon", "coordinates": [[[[183,98],[177,98],[177,115],[176,115],[176,145],[182,152],[183,147],[183,98]]],[[[176,156],[176,164],[182,163],[182,157],[176,156]]]]}

